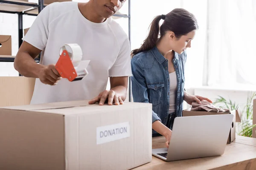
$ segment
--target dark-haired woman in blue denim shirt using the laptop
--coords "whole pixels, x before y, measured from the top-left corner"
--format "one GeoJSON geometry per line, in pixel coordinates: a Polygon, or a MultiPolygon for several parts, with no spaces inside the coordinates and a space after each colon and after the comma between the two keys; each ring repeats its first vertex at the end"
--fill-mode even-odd
{"type": "Polygon", "coordinates": [[[131,52],[134,102],[152,103],[152,136],[165,136],[166,147],[175,117],[182,116],[183,100],[189,105],[203,99],[212,102],[184,90],[186,48],[191,47],[197,29],[195,16],[176,8],[154,18],[143,45],[131,52]],[[160,20],[164,20],[161,26],[160,20]]]}

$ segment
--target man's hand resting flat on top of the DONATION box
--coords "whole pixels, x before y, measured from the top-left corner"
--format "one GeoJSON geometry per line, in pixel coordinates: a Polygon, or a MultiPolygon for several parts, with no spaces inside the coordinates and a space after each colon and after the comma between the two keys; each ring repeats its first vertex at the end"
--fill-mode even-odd
{"type": "Polygon", "coordinates": [[[113,105],[113,102],[115,105],[123,104],[123,100],[121,96],[116,94],[113,90],[105,90],[99,94],[99,96],[95,97],[94,99],[89,101],[89,104],[95,104],[96,102],[99,102],[99,105],[104,105],[104,103],[108,101],[108,105],[113,105]]]}

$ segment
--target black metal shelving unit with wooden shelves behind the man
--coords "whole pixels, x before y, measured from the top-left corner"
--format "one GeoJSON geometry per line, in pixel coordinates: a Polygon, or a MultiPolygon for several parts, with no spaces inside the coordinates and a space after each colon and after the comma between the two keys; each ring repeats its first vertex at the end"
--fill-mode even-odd
{"type": "MultiPolygon", "coordinates": [[[[19,39],[19,48],[23,40],[23,15],[37,16],[43,8],[47,6],[44,4],[44,0],[38,0],[37,3],[30,3],[21,0],[0,0],[0,12],[17,14],[18,15],[18,39],[19,39]]],[[[126,14],[114,14],[116,17],[128,18],[128,27],[129,27],[129,40],[131,44],[131,0],[128,0],[128,15],[126,14]]],[[[0,62],[14,62],[15,56],[3,56],[0,55],[0,62]]],[[[40,61],[39,58],[35,58],[36,62],[40,61]]],[[[131,102],[131,78],[129,77],[129,101],[131,102]]]]}

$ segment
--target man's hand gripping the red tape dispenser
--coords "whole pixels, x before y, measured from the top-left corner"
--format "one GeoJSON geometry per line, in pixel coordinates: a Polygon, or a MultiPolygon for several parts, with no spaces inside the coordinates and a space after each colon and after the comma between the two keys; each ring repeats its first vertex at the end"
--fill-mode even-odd
{"type": "Polygon", "coordinates": [[[55,68],[55,65],[46,65],[41,68],[38,77],[40,81],[47,85],[56,85],[61,79],[58,71],[55,68]]]}

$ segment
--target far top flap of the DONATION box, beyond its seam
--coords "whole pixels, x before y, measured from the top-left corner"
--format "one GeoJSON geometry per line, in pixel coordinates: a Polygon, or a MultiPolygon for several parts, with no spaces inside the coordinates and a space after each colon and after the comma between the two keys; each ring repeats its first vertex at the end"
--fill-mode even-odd
{"type": "Polygon", "coordinates": [[[39,111],[47,109],[59,109],[59,108],[73,108],[77,106],[88,105],[89,100],[77,100],[69,102],[54,102],[54,103],[44,103],[38,105],[20,105],[20,106],[9,106],[2,107],[0,109],[18,110],[18,111],[39,111]]]}

